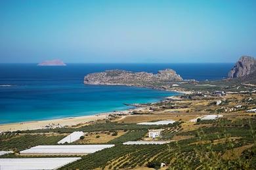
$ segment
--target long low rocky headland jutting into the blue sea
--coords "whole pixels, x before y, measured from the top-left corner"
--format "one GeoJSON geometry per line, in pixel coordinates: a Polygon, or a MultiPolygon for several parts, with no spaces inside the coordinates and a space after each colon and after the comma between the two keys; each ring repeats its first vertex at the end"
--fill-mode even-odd
{"type": "Polygon", "coordinates": [[[101,73],[91,73],[85,76],[85,84],[112,84],[128,86],[150,86],[158,82],[177,82],[181,81],[180,75],[177,75],[172,69],[158,71],[157,74],[123,70],[108,70],[101,73]]]}

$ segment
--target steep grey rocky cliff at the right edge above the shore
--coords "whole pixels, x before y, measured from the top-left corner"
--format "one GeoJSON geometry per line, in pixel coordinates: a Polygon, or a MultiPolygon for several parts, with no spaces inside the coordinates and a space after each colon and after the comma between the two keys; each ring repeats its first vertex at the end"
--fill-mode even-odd
{"type": "Polygon", "coordinates": [[[229,78],[236,78],[249,75],[256,71],[256,59],[249,56],[242,56],[236,65],[228,73],[229,78]]]}

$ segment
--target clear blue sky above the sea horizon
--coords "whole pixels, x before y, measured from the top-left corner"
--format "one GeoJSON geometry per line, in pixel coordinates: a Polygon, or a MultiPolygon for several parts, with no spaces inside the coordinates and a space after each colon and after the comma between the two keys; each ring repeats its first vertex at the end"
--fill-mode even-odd
{"type": "Polygon", "coordinates": [[[0,62],[190,63],[256,57],[256,1],[1,0],[0,62]]]}

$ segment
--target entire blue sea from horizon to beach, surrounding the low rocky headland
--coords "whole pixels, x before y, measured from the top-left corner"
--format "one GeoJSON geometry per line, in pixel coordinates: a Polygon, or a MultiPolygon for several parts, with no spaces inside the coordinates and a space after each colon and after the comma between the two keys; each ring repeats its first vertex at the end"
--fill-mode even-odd
{"type": "Polygon", "coordinates": [[[0,124],[85,116],[127,109],[123,103],[148,103],[177,95],[146,88],[83,84],[88,73],[106,69],[147,71],[171,68],[184,79],[226,77],[233,63],[81,63],[67,66],[0,64],[0,124]],[[5,86],[11,85],[11,86],[5,86]]]}

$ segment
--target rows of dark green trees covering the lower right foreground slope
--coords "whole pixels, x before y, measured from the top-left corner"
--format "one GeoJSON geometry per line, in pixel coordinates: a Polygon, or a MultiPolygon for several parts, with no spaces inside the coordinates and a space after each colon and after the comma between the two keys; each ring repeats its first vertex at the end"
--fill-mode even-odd
{"type": "MultiPolygon", "coordinates": [[[[255,129],[256,120],[226,120],[198,123],[212,124],[211,127],[201,127],[198,130],[180,132],[177,135],[194,135],[176,143],[124,145],[125,141],[139,140],[146,134],[146,130],[128,131],[125,135],[110,141],[116,146],[101,150],[94,154],[83,156],[75,163],[66,165],[62,169],[117,169],[148,166],[158,168],[160,163],[166,163],[169,169],[255,169],[255,129]],[[140,134],[140,135],[139,135],[140,134]],[[137,135],[137,137],[135,137],[137,135]],[[232,160],[223,158],[229,152],[240,146],[252,148],[244,150],[241,156],[232,160]]],[[[169,134],[172,127],[163,131],[169,134]]]]}

